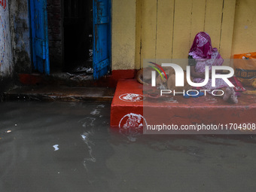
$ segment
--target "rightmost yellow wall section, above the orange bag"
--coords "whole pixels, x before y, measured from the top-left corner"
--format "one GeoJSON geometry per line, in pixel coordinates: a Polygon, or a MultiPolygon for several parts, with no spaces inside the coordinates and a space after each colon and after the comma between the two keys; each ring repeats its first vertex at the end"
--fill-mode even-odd
{"type": "Polygon", "coordinates": [[[256,52],[256,1],[236,0],[232,53],[256,52]]]}

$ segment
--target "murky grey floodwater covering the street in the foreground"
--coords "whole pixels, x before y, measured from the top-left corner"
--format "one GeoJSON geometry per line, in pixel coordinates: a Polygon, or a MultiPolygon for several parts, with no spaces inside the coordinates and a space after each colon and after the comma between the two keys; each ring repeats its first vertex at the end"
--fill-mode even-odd
{"type": "Polygon", "coordinates": [[[0,191],[255,191],[255,136],[109,128],[110,103],[1,102],[0,191]]]}

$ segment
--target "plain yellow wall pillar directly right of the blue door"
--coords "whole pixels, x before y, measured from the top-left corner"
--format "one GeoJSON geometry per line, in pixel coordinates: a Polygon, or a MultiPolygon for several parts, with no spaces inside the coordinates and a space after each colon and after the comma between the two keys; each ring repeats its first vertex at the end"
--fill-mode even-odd
{"type": "Polygon", "coordinates": [[[112,0],[112,70],[135,69],[136,0],[112,0]]]}

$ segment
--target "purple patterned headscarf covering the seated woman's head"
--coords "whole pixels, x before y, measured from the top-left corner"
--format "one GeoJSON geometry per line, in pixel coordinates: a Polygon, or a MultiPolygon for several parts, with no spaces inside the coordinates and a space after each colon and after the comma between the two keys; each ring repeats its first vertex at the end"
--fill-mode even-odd
{"type": "Polygon", "coordinates": [[[210,36],[206,32],[199,32],[194,38],[188,54],[194,59],[211,59],[212,53],[216,50],[217,48],[212,48],[210,36]]]}

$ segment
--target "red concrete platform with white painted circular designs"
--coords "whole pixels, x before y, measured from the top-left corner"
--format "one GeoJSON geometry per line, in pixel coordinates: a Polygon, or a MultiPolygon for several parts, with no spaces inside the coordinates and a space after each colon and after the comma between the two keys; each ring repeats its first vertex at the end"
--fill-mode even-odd
{"type": "MultiPolygon", "coordinates": [[[[151,87],[148,87],[150,90],[151,87]]],[[[256,96],[239,97],[238,104],[224,102],[218,96],[185,99],[183,96],[148,96],[147,89],[134,79],[119,80],[111,104],[112,127],[144,125],[218,125],[256,123],[256,96]]],[[[159,91],[160,93],[160,91],[159,91]]],[[[224,132],[223,132],[224,133],[224,132]]]]}

